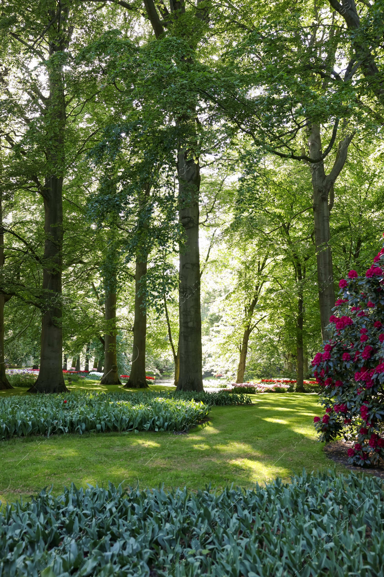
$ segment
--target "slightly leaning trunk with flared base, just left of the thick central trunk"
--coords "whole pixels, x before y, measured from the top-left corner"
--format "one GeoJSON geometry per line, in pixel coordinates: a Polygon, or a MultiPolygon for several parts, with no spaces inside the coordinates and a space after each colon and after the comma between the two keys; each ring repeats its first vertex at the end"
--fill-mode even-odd
{"type": "Polygon", "coordinates": [[[143,276],[147,273],[147,258],[136,257],[135,268],[135,320],[134,320],[134,344],[132,347],[132,364],[130,378],[125,388],[142,389],[148,388],[145,378],[145,350],[147,338],[147,312],[143,307],[145,298],[142,293],[143,276]],[[143,262],[142,262],[143,261],[143,262]]]}

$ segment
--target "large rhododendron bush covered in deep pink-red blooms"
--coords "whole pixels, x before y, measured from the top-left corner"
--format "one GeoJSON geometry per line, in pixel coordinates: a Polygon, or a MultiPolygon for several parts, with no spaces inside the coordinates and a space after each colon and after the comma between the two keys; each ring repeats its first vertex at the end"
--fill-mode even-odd
{"type": "Polygon", "coordinates": [[[330,339],[312,361],[326,407],[322,418],[314,418],[320,440],[357,437],[348,460],[360,466],[384,457],[383,266],[384,248],[364,276],[349,271],[341,279],[343,298],[329,319],[330,339]]]}

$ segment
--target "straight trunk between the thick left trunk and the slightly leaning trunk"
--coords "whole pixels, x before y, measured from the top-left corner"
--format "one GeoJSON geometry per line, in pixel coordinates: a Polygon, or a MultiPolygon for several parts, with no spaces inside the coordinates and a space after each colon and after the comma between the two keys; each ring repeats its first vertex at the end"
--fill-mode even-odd
{"type": "Polygon", "coordinates": [[[100,384],[121,385],[116,362],[116,288],[109,288],[105,298],[105,321],[108,328],[104,337],[104,375],[100,384]]]}

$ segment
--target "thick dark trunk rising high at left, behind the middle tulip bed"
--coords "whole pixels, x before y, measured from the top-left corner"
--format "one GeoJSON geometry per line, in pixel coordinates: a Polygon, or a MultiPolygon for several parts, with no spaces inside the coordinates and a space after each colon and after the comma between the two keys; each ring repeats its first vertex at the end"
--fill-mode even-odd
{"type": "MultiPolygon", "coordinates": [[[[62,13],[62,27],[67,10],[62,13]],[[65,16],[64,16],[65,14],[65,16]]],[[[63,50],[63,45],[50,43],[50,57],[63,50]]],[[[54,58],[52,58],[52,62],[54,58]]],[[[50,173],[39,192],[44,200],[44,267],[43,306],[41,308],[40,372],[30,392],[58,393],[67,391],[62,370],[62,248],[63,248],[63,174],[64,128],[66,123],[63,71],[56,58],[48,68],[50,96],[45,113],[48,141],[47,161],[50,173]]]]}

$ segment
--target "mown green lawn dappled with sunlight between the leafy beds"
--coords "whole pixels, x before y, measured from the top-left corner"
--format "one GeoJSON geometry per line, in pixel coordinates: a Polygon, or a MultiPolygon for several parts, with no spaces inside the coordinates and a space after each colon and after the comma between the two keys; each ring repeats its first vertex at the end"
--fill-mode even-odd
{"type": "Polygon", "coordinates": [[[303,467],[333,466],[312,425],[322,413],[317,395],[250,396],[252,406],[212,407],[210,422],[188,434],[88,433],[2,441],[0,500],[29,496],[52,484],[59,494],[71,482],[77,487],[108,481],[140,488],[163,483],[192,490],[209,483],[251,487],[276,476],[288,480],[303,467]]]}

